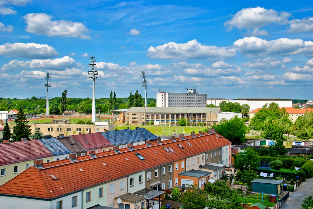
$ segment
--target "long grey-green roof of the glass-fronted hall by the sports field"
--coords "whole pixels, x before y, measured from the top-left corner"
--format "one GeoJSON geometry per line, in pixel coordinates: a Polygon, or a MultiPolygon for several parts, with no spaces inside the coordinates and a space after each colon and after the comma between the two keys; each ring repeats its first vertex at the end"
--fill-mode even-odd
{"type": "Polygon", "coordinates": [[[146,112],[146,113],[219,113],[219,107],[131,107],[126,112],[146,112]]]}

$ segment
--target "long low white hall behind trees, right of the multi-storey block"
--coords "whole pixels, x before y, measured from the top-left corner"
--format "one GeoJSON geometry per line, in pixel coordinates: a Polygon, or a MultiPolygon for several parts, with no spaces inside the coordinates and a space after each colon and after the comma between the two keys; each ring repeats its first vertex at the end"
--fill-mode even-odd
{"type": "Polygon", "coordinates": [[[250,110],[255,110],[257,108],[261,108],[265,103],[269,104],[275,102],[279,104],[279,107],[292,107],[292,99],[265,99],[265,98],[255,98],[255,99],[225,99],[225,98],[208,98],[207,104],[213,104],[219,106],[221,102],[239,102],[240,105],[248,104],[250,106],[250,110]]]}

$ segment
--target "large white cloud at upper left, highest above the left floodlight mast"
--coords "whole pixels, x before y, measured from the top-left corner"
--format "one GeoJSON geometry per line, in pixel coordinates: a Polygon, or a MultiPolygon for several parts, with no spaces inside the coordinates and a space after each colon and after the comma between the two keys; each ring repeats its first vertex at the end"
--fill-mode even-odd
{"type": "Polygon", "coordinates": [[[87,28],[81,22],[68,20],[51,20],[53,16],[45,13],[29,13],[24,16],[26,31],[38,35],[90,38],[85,33],[87,28]]]}

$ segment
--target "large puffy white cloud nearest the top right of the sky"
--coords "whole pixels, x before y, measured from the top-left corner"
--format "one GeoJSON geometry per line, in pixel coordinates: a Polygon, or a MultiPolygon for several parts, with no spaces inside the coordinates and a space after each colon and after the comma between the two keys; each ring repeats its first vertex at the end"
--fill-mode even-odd
{"type": "Polygon", "coordinates": [[[260,28],[272,23],[280,24],[288,21],[288,12],[277,12],[274,9],[263,7],[249,7],[238,11],[231,19],[225,22],[229,29],[237,28],[260,28]]]}

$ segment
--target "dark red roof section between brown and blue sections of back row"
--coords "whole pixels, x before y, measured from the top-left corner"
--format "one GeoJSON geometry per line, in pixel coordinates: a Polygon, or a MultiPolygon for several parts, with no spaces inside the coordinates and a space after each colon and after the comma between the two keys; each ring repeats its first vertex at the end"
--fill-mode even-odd
{"type": "Polygon", "coordinates": [[[104,136],[102,136],[100,132],[72,136],[87,150],[113,146],[113,144],[109,142],[104,136]],[[88,143],[86,143],[85,140],[88,143]]]}

